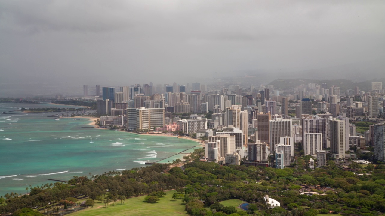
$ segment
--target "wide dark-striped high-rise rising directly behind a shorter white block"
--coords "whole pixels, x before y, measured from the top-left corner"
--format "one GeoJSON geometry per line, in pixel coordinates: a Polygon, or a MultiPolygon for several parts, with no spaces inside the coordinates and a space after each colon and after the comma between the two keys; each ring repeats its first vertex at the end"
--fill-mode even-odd
{"type": "Polygon", "coordinates": [[[305,140],[306,133],[322,134],[322,149],[327,148],[327,122],[326,118],[311,116],[302,119],[302,141],[305,140]]]}

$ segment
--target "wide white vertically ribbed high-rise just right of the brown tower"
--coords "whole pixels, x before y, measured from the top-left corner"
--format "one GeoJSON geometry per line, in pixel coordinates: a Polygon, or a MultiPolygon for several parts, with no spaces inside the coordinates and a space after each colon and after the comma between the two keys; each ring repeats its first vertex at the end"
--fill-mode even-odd
{"type": "MultiPolygon", "coordinates": [[[[258,118],[258,124],[260,119],[258,118]]],[[[270,151],[275,151],[275,146],[278,145],[281,141],[281,137],[293,136],[292,123],[290,119],[276,118],[275,120],[270,120],[270,151]]],[[[259,134],[259,125],[258,125],[258,134],[259,134]]]]}

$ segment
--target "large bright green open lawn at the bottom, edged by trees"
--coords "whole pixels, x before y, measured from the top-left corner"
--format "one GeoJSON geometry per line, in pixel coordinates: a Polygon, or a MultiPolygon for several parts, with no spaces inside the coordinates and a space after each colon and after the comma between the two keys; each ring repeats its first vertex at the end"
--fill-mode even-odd
{"type": "Polygon", "coordinates": [[[146,196],[139,196],[126,199],[124,204],[121,201],[116,202],[116,206],[104,207],[103,203],[96,201],[93,208],[87,208],[70,216],[127,216],[127,215],[141,215],[141,216],[173,216],[173,215],[187,215],[184,210],[184,203],[181,199],[172,199],[172,194],[175,191],[166,191],[166,195],[157,203],[151,204],[144,202],[146,196]],[[99,208],[98,208],[99,207],[99,208]]]}

